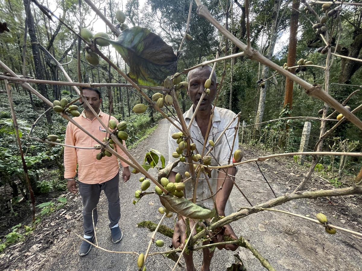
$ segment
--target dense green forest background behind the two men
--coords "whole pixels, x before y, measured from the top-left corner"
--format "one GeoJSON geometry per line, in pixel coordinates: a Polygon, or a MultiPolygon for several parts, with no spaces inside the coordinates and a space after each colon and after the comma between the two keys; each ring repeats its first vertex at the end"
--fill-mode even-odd
{"type": "MultiPolygon", "coordinates": [[[[71,76],[73,81],[77,81],[77,38],[66,27],[54,20],[52,22],[41,10],[34,4],[29,5],[29,16],[25,22],[25,8],[28,1],[0,1],[0,21],[7,22],[10,31],[4,31],[0,34],[0,59],[7,64],[16,74],[37,79],[46,79],[54,81],[66,81],[63,74],[41,49],[41,46],[49,50],[60,63],[67,63],[64,68],[71,76]],[[28,38],[24,44],[25,26],[30,24],[28,38]],[[32,29],[33,31],[31,31],[32,29]],[[37,42],[41,44],[38,46],[37,42]],[[24,53],[25,52],[25,53],[24,53]],[[72,60],[73,59],[73,60],[72,60]],[[72,61],[71,61],[72,60],[72,61]],[[25,70],[23,65],[25,63],[25,70]]],[[[147,27],[156,34],[159,34],[165,42],[170,44],[176,52],[182,37],[184,35],[185,23],[188,16],[188,1],[156,1],[149,0],[143,8],[139,8],[138,1],[97,1],[95,2],[100,9],[104,10],[106,17],[115,22],[114,11],[123,9],[126,14],[126,23],[129,26],[139,25],[147,27]],[[124,6],[123,6],[124,5],[124,6]]],[[[223,7],[228,7],[225,1],[221,1],[223,7]]],[[[211,14],[220,22],[228,22],[228,29],[240,40],[246,38],[245,7],[241,1],[233,1],[230,12],[225,12],[218,1],[207,1],[211,14]],[[228,20],[226,20],[228,17],[228,20]]],[[[44,2],[44,5],[49,3],[44,2]]],[[[283,34],[289,33],[291,17],[291,1],[251,1],[251,44],[259,52],[270,57],[275,63],[283,66],[287,62],[288,46],[287,42],[281,50],[275,52],[275,43],[283,37],[283,34]]],[[[59,17],[73,29],[79,26],[79,2],[78,1],[55,1],[59,17]]],[[[230,2],[229,2],[230,7],[230,2]]],[[[317,48],[322,46],[321,39],[315,34],[311,23],[300,5],[298,36],[296,47],[296,59],[307,59],[313,61],[315,65],[325,65],[325,55],[317,52],[317,48]],[[304,14],[304,15],[303,15],[304,14]]],[[[322,16],[322,10],[316,8],[317,13],[322,16]]],[[[57,13],[55,12],[55,13],[57,13]]],[[[91,10],[88,5],[81,5],[81,21],[87,21],[91,10]]],[[[341,55],[347,55],[361,59],[362,31],[361,31],[361,7],[349,6],[344,8],[342,13],[342,27],[339,46],[337,52],[341,55]]],[[[84,27],[92,30],[96,19],[84,27]]],[[[328,25],[329,28],[332,25],[328,25]]],[[[108,34],[115,38],[109,29],[108,34]]],[[[189,33],[193,36],[192,41],[186,41],[184,52],[178,60],[177,71],[190,68],[205,60],[214,59],[219,47],[220,35],[214,27],[204,18],[197,15],[196,6],[193,6],[191,13],[189,33]]],[[[338,33],[336,31],[335,33],[338,33]]],[[[334,40],[338,35],[333,36],[334,40]]],[[[228,44],[230,53],[239,52],[239,48],[233,44],[228,44]]],[[[105,55],[110,54],[110,59],[114,61],[124,72],[127,67],[118,53],[110,53],[107,47],[103,47],[102,52],[105,55]]],[[[125,80],[114,69],[110,69],[108,63],[100,60],[100,64],[92,66],[85,60],[85,52],[81,53],[81,77],[83,82],[122,82],[125,80]]],[[[361,63],[356,61],[342,60],[335,57],[330,70],[329,93],[338,101],[345,100],[353,91],[358,90],[362,85],[361,63]]],[[[216,65],[218,78],[222,77],[225,68],[225,81],[222,87],[221,99],[218,106],[230,108],[235,113],[241,112],[241,120],[245,120],[247,125],[252,125],[261,121],[278,119],[285,116],[307,116],[321,117],[319,111],[323,108],[323,103],[317,99],[312,99],[305,95],[304,90],[297,84],[294,84],[292,108],[284,107],[285,77],[276,75],[269,83],[266,83],[265,89],[256,83],[260,78],[268,78],[274,74],[273,70],[265,69],[263,65],[251,61],[248,57],[239,57],[226,61],[226,66],[220,62],[216,65]],[[265,101],[260,95],[260,91],[265,94],[265,101]],[[261,98],[261,99],[260,99],[261,98]],[[262,106],[264,104],[264,108],[262,106]],[[261,112],[263,111],[263,112],[261,112]]],[[[307,68],[306,71],[298,73],[306,81],[313,84],[323,84],[324,71],[318,68],[307,68]]],[[[183,81],[186,76],[183,76],[183,81]]],[[[0,81],[1,90],[5,89],[3,81],[0,81]]],[[[39,93],[50,100],[63,97],[74,97],[71,87],[51,86],[51,85],[33,85],[39,93]]],[[[31,141],[26,138],[31,125],[38,116],[47,109],[41,100],[36,98],[30,92],[21,88],[20,85],[13,84],[13,99],[17,113],[20,130],[22,132],[22,143],[26,161],[30,169],[32,186],[36,194],[47,193],[56,189],[66,189],[66,183],[63,181],[63,155],[62,147],[45,148],[44,144],[31,141]]],[[[135,104],[142,103],[140,98],[132,89],[125,87],[106,87],[101,88],[103,93],[102,110],[109,111],[110,93],[113,97],[112,115],[117,119],[126,120],[129,123],[130,139],[127,145],[130,146],[137,139],[142,138],[147,129],[153,123],[160,119],[160,115],[148,109],[147,114],[135,115],[131,109],[135,104]]],[[[152,96],[151,90],[147,95],[152,96]]],[[[190,102],[186,98],[185,91],[180,92],[180,105],[183,111],[190,107],[190,102]]],[[[8,107],[6,94],[0,94],[0,174],[1,174],[1,195],[0,212],[2,215],[10,213],[21,216],[19,202],[28,199],[28,191],[25,186],[24,172],[22,171],[21,161],[19,159],[17,143],[12,128],[11,114],[8,107]]],[[[358,92],[352,96],[348,105],[354,109],[361,103],[361,93],[358,92]]],[[[333,110],[329,109],[329,113],[333,110]]],[[[361,113],[357,113],[361,119],[361,113]]],[[[48,134],[57,134],[61,139],[65,135],[67,121],[59,115],[48,111],[45,117],[39,120],[34,128],[33,135],[39,138],[48,134]]],[[[327,122],[327,129],[333,126],[334,122],[327,122]]],[[[304,121],[288,120],[277,121],[254,125],[245,128],[244,142],[251,148],[262,148],[270,151],[298,151],[300,136],[302,133],[304,121]]],[[[319,138],[320,121],[312,121],[311,138],[308,149],[312,150],[319,138]]],[[[353,124],[346,121],[337,129],[327,140],[324,141],[323,150],[332,151],[361,151],[361,145],[358,142],[361,138],[361,131],[353,124]]],[[[338,186],[348,182],[355,176],[361,168],[361,159],[341,158],[331,159],[323,158],[319,162],[318,171],[323,172],[326,178],[338,180],[338,186]],[[342,168],[340,167],[342,164],[342,168]],[[340,169],[343,169],[340,172],[340,169]]],[[[23,215],[24,215],[23,214],[23,215]]],[[[1,228],[9,228],[14,225],[15,219],[5,221],[1,228]]]]}

